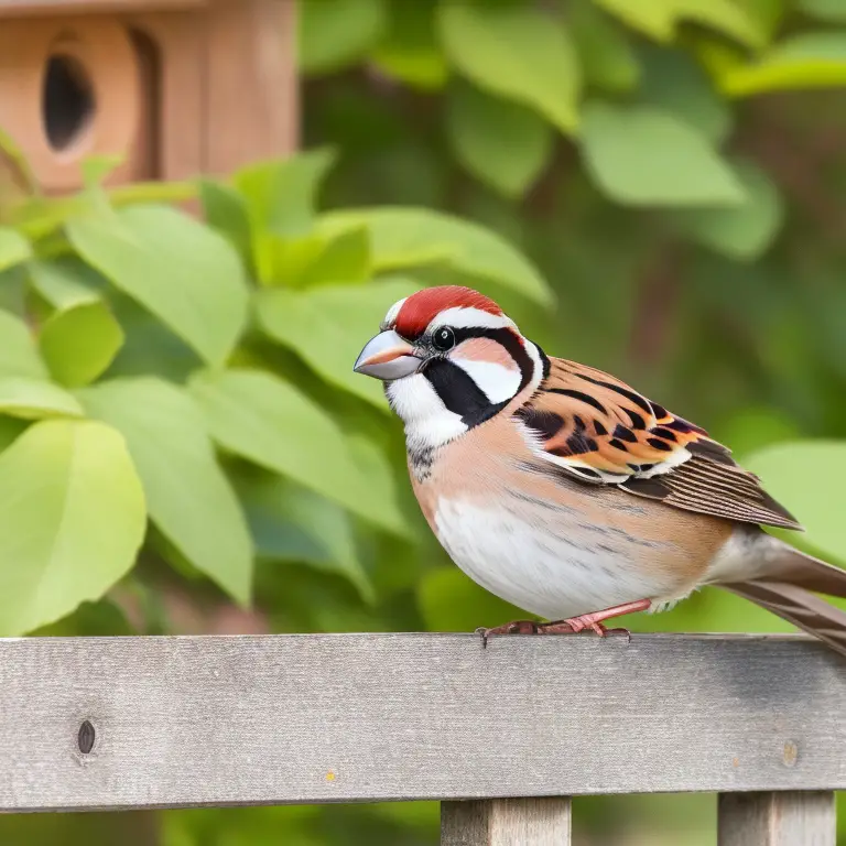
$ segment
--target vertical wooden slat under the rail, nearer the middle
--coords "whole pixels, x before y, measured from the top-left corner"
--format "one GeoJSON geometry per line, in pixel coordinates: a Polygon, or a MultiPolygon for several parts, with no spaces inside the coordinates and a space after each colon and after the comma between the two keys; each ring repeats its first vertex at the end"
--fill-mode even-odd
{"type": "Polygon", "coordinates": [[[441,846],[570,846],[568,799],[441,803],[441,846]]]}

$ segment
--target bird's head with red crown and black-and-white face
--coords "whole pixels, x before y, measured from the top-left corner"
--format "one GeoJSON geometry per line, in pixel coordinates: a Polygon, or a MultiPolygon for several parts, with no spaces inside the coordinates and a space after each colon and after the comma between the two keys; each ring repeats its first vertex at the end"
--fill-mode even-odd
{"type": "Polygon", "coordinates": [[[419,291],[394,303],[380,328],[355,370],[386,382],[415,449],[452,441],[528,399],[547,368],[513,321],[468,288],[419,291]]]}

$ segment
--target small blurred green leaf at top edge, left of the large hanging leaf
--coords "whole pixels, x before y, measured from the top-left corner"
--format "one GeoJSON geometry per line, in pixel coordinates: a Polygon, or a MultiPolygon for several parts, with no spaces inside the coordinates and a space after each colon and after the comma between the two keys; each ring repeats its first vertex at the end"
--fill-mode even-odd
{"type": "Polygon", "coordinates": [[[384,74],[425,91],[446,84],[449,70],[435,31],[434,0],[414,0],[393,8],[388,32],[370,53],[384,74]]]}

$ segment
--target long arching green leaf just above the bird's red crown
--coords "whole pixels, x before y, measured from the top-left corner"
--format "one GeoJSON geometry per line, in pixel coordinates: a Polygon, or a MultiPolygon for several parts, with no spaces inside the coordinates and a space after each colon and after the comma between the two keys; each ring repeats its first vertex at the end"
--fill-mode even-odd
{"type": "Polygon", "coordinates": [[[402,206],[358,208],[324,215],[328,237],[367,226],[373,270],[401,270],[443,263],[477,280],[489,280],[543,305],[552,292],[538,270],[507,241],[477,224],[440,212],[402,206]]]}

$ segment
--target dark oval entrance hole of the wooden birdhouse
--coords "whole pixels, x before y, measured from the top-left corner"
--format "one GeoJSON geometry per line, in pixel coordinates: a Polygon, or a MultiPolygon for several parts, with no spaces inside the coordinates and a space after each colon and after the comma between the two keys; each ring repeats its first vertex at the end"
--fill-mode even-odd
{"type": "Polygon", "coordinates": [[[55,152],[67,152],[84,138],[96,106],[94,86],[83,63],[62,53],[51,55],[44,75],[42,115],[47,141],[55,152]]]}

